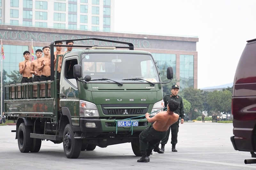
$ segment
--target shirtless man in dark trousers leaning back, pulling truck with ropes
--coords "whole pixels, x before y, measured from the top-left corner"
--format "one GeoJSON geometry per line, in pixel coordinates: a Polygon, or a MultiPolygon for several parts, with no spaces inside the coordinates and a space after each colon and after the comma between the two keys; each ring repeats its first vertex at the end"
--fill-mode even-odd
{"type": "Polygon", "coordinates": [[[179,107],[179,103],[174,100],[169,100],[167,111],[157,113],[154,117],[149,117],[146,113],[146,118],[153,125],[147,127],[140,133],[140,152],[141,158],[137,162],[149,162],[149,156],[156,144],[159,143],[167,135],[169,127],[178,121],[179,115],[174,113],[179,107]]]}

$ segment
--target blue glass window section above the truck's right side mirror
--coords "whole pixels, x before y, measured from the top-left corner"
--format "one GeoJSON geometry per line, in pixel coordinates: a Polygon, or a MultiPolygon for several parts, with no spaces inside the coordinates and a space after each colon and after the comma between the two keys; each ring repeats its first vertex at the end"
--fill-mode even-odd
{"type": "Polygon", "coordinates": [[[173,73],[176,74],[176,54],[152,53],[152,55],[157,62],[160,72],[166,72],[167,67],[172,67],[173,73]]]}

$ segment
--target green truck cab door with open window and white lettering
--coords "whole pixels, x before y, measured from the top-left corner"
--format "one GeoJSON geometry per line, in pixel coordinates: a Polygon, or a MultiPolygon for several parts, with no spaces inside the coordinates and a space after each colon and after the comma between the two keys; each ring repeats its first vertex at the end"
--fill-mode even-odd
{"type": "Polygon", "coordinates": [[[60,76],[60,107],[67,107],[72,126],[79,126],[79,93],[78,82],[74,78],[74,65],[78,63],[78,56],[65,58],[60,76]]]}

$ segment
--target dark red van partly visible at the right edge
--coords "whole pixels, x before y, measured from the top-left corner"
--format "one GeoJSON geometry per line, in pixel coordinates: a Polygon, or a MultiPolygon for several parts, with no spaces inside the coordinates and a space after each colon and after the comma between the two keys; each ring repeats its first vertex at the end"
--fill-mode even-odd
{"type": "MultiPolygon", "coordinates": [[[[256,158],[256,39],[247,41],[236,68],[232,114],[234,149],[251,152],[256,158]]],[[[256,159],[250,160],[256,163],[256,159]]]]}

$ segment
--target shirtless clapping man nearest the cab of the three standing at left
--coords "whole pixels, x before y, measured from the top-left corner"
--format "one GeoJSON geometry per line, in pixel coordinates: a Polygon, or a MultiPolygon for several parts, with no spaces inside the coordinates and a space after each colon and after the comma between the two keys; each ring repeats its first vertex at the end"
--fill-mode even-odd
{"type": "Polygon", "coordinates": [[[44,57],[38,58],[37,60],[37,70],[41,72],[40,81],[51,80],[51,68],[49,66],[49,55],[50,55],[50,47],[45,46],[43,48],[44,57]]]}

